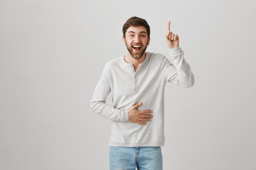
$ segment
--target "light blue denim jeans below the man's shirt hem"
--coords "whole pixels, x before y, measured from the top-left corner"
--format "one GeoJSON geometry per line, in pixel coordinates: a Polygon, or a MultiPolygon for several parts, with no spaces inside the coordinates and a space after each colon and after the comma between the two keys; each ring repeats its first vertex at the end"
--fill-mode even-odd
{"type": "Polygon", "coordinates": [[[161,147],[110,146],[110,170],[162,170],[161,147]]]}

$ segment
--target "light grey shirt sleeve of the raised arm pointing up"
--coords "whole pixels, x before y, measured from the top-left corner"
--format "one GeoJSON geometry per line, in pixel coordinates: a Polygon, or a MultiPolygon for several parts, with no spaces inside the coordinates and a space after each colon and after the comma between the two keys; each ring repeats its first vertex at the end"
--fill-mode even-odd
{"type": "Polygon", "coordinates": [[[170,49],[169,54],[173,59],[173,64],[166,57],[162,61],[162,75],[166,82],[186,88],[193,86],[194,75],[184,58],[184,51],[177,46],[175,49],[170,49]]]}

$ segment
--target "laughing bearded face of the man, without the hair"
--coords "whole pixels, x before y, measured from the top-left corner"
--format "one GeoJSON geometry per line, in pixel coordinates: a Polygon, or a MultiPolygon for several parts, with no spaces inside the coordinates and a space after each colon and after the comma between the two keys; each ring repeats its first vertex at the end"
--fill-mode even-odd
{"type": "Polygon", "coordinates": [[[144,26],[130,26],[126,30],[125,35],[123,42],[126,44],[130,55],[134,59],[139,60],[145,53],[150,42],[146,28],[144,26]]]}

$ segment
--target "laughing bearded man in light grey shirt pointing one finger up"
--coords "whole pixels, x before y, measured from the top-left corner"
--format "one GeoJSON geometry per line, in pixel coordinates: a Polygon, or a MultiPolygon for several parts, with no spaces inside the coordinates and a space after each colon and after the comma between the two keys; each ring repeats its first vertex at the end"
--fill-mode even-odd
{"type": "Polygon", "coordinates": [[[131,17],[123,26],[128,54],[108,62],[92,96],[92,110],[112,120],[110,170],[162,170],[164,86],[194,84],[178,35],[167,25],[166,44],[173,64],[162,54],[145,52],[150,42],[146,20],[131,17]],[[106,97],[112,93],[112,107],[106,97]]]}

